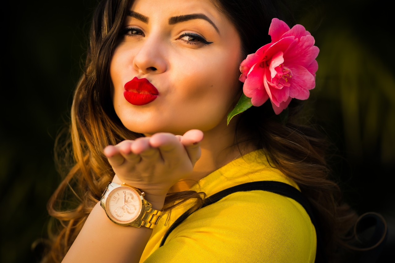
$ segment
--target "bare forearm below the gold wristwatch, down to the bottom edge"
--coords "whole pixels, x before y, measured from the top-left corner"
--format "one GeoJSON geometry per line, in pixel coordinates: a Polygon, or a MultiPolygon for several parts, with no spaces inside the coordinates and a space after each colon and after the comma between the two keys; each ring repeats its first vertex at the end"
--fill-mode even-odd
{"type": "Polygon", "coordinates": [[[99,202],[62,262],[139,262],[151,233],[111,222],[99,202]]]}

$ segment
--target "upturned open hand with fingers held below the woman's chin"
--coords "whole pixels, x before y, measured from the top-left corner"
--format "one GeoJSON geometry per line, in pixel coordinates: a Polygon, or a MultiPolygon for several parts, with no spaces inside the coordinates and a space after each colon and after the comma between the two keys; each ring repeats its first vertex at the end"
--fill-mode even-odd
{"type": "Polygon", "coordinates": [[[120,181],[150,195],[166,195],[178,180],[188,177],[199,159],[203,132],[184,135],[156,133],[151,137],[126,140],[104,149],[120,181]]]}

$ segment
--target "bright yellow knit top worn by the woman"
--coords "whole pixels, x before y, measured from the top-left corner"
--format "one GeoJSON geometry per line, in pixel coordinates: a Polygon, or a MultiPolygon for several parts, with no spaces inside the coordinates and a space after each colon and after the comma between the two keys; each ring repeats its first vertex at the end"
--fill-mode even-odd
{"type": "MultiPolygon", "coordinates": [[[[207,196],[245,182],[274,180],[299,187],[270,167],[262,150],[238,158],[199,180],[193,190],[207,196]]],[[[303,207],[292,198],[267,191],[236,192],[197,210],[167,229],[190,205],[181,205],[158,222],[145,247],[144,263],[314,262],[316,232],[303,207]]]]}

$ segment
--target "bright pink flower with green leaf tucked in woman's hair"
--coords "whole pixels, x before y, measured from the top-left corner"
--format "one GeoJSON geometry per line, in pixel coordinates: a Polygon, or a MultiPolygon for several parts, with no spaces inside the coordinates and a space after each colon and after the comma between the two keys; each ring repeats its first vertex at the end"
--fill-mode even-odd
{"type": "Polygon", "coordinates": [[[251,104],[260,106],[268,99],[275,113],[280,114],[293,98],[306,100],[309,90],[315,87],[316,57],[320,50],[314,46],[313,36],[302,25],[290,29],[277,18],[272,19],[269,35],[271,43],[249,54],[240,64],[239,80],[244,83],[247,98],[241,98],[235,107],[239,109],[229,113],[228,123],[251,104]]]}

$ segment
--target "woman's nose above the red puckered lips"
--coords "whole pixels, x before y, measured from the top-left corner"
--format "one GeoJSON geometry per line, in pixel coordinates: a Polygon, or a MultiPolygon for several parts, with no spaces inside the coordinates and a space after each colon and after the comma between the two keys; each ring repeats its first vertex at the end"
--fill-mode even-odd
{"type": "Polygon", "coordinates": [[[134,56],[133,67],[141,74],[160,74],[167,70],[163,41],[156,36],[145,37],[134,56]]]}

